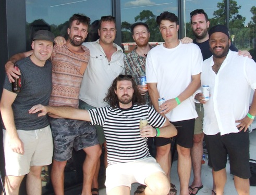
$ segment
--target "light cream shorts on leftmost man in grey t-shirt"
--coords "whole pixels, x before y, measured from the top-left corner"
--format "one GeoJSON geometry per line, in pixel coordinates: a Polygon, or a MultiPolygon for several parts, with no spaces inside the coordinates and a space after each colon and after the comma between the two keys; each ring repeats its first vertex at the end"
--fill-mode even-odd
{"type": "Polygon", "coordinates": [[[30,166],[52,163],[53,138],[50,126],[32,131],[17,130],[25,153],[18,154],[9,147],[9,136],[3,129],[6,175],[21,176],[29,173],[30,166]]]}

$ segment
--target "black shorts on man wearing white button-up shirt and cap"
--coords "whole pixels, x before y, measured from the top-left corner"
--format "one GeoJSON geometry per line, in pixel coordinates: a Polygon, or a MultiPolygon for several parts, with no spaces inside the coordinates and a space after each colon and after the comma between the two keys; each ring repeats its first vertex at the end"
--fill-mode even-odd
{"type": "Polygon", "coordinates": [[[249,133],[241,131],[222,135],[205,135],[204,140],[209,154],[208,165],[214,171],[220,171],[226,167],[227,155],[230,162],[230,173],[248,179],[250,173],[249,133]]]}

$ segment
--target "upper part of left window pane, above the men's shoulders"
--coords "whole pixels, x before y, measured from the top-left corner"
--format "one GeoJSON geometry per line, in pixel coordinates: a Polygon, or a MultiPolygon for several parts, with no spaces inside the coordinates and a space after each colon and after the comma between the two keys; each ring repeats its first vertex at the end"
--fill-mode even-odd
{"type": "MultiPolygon", "coordinates": [[[[50,30],[55,36],[67,36],[68,20],[78,13],[91,18],[90,31],[94,32],[101,16],[112,15],[112,0],[26,0],[27,50],[31,49],[33,33],[39,29],[50,30]]],[[[89,34],[87,40],[94,39],[89,34]]]]}

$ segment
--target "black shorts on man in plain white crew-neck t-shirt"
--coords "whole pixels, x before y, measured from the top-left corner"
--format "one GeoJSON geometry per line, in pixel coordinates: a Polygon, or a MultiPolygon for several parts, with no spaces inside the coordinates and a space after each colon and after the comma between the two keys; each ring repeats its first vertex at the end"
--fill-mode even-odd
{"type": "MultiPolygon", "coordinates": [[[[184,148],[193,147],[193,135],[194,135],[194,119],[170,122],[178,131],[176,136],[176,142],[179,146],[184,148]]],[[[170,144],[172,138],[155,137],[155,146],[165,146],[170,144]]]]}

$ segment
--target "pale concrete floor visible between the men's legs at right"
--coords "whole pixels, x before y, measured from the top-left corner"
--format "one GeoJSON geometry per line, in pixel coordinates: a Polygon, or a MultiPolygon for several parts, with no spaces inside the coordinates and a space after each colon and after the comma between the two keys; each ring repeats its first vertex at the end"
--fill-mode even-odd
{"type": "MultiPolygon", "coordinates": [[[[256,129],[254,129],[250,133],[250,158],[256,160],[256,129]]],[[[197,193],[198,195],[211,195],[212,185],[213,185],[213,179],[212,179],[212,172],[211,168],[207,165],[208,160],[205,158],[205,164],[202,165],[202,181],[203,181],[203,188],[197,193]]],[[[229,195],[235,195],[237,194],[236,189],[234,187],[233,182],[233,175],[230,175],[229,173],[229,163],[227,163],[226,166],[227,170],[227,183],[225,186],[225,194],[229,195]]],[[[191,174],[192,175],[192,174],[191,174]]],[[[193,175],[192,175],[193,176],[193,175]]],[[[192,176],[190,177],[190,184],[192,182],[192,176]]],[[[177,161],[173,162],[172,166],[172,173],[171,173],[172,183],[176,185],[176,189],[179,191],[179,178],[177,174],[177,161]]],[[[139,184],[133,184],[131,187],[131,195],[133,195],[134,191],[136,190],[137,186],[139,184]]],[[[105,195],[106,191],[105,189],[101,189],[99,192],[100,195],[105,195]]],[[[179,193],[177,193],[179,194],[179,193]]],[[[256,186],[250,187],[250,194],[254,195],[256,194],[256,186]]]]}

